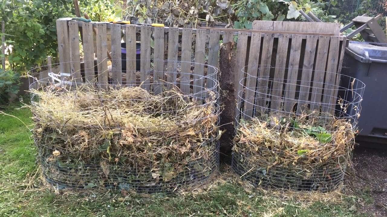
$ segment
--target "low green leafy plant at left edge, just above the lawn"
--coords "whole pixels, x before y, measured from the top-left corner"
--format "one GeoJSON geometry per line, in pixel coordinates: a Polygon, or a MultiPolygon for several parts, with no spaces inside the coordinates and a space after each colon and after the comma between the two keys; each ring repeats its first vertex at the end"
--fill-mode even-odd
{"type": "Polygon", "coordinates": [[[0,69],[0,105],[8,102],[9,94],[19,92],[19,73],[0,69]]]}

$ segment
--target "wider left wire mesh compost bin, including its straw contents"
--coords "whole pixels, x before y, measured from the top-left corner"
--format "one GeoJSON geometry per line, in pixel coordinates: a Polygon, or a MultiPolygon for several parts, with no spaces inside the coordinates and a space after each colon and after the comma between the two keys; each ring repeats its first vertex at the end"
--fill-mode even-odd
{"type": "Polygon", "coordinates": [[[82,64],[74,73],[55,73],[55,65],[29,73],[34,142],[47,183],[172,193],[215,175],[217,68],[150,62],[150,70],[116,70],[118,80],[111,68],[95,66],[90,74],[82,64]],[[38,75],[46,68],[48,76],[38,75]]]}

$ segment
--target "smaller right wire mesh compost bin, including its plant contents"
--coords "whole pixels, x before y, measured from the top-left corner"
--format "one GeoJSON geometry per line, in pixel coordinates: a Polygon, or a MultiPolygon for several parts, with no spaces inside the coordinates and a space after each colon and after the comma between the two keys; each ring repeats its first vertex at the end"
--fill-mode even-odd
{"type": "Polygon", "coordinates": [[[233,170],[255,186],[337,189],[351,160],[364,83],[326,71],[245,68],[257,74],[242,70],[233,170]]]}

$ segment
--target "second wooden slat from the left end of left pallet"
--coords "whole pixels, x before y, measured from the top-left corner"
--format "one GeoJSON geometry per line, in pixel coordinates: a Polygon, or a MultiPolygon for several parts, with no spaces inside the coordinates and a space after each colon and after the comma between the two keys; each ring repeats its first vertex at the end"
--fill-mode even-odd
{"type": "Polygon", "coordinates": [[[78,22],[68,22],[68,34],[70,36],[70,72],[75,82],[82,82],[80,76],[79,53],[79,27],[78,22]]]}

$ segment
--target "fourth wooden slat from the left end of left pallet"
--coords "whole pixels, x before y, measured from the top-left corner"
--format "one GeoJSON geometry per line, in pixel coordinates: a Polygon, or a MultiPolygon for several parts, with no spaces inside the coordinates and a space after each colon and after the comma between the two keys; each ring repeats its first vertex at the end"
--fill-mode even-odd
{"type": "Polygon", "coordinates": [[[98,86],[101,89],[108,87],[108,49],[106,46],[106,24],[97,24],[97,68],[98,86]]]}

